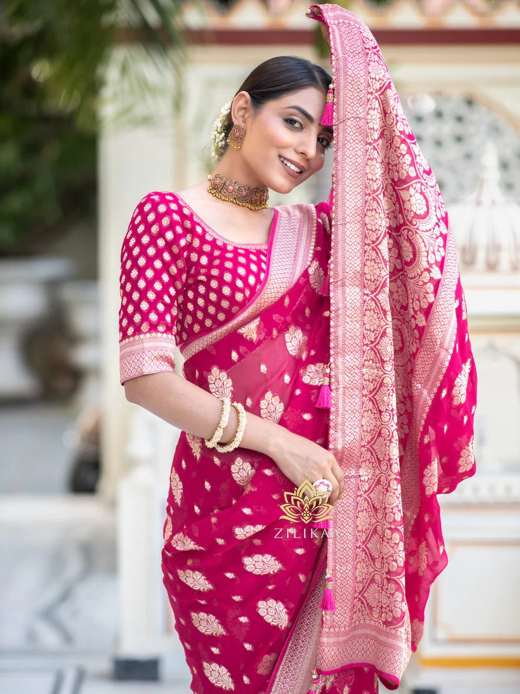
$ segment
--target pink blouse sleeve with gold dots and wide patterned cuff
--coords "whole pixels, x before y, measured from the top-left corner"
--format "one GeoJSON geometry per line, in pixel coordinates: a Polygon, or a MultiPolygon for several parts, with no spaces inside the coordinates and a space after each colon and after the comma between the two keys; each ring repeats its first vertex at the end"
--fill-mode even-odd
{"type": "Polygon", "coordinates": [[[121,248],[119,381],[173,371],[177,296],[186,280],[185,239],[173,195],[153,192],[135,208],[121,248]],[[178,220],[178,217],[177,217],[178,220]]]}

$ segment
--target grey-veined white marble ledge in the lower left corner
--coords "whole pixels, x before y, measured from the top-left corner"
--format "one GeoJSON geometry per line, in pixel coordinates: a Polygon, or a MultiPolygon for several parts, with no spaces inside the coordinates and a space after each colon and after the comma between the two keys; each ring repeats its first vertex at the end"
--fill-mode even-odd
{"type": "Polygon", "coordinates": [[[112,507],[89,496],[3,495],[0,557],[0,694],[189,693],[180,653],[163,682],[112,678],[112,507]]]}

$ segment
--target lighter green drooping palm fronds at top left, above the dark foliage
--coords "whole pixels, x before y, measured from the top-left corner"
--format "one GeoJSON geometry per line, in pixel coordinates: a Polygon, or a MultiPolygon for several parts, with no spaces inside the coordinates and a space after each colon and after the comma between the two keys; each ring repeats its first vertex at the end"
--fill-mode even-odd
{"type": "MultiPolygon", "coordinates": [[[[179,76],[184,63],[180,5],[181,0],[128,0],[125,6],[118,0],[4,0],[0,36],[11,46],[24,44],[28,70],[48,65],[49,103],[73,112],[80,128],[95,131],[98,96],[121,20],[130,21],[135,40],[151,60],[162,67],[166,63],[179,76]]],[[[141,83],[145,93],[148,86],[141,83]]]]}

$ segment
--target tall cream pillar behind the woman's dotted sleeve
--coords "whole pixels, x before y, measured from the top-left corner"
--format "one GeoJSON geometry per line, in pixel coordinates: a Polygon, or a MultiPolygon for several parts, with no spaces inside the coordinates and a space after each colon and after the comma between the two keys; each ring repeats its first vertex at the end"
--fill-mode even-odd
{"type": "Polygon", "coordinates": [[[157,67],[135,46],[114,51],[108,69],[98,144],[99,277],[101,287],[102,473],[99,491],[113,498],[125,471],[124,447],[130,404],[119,384],[119,271],[121,244],[135,206],[152,190],[174,188],[174,84],[166,62],[157,67]],[[144,74],[148,97],[129,94],[119,66],[127,61],[132,82],[144,74]],[[125,121],[117,116],[128,108],[125,121]],[[149,122],[138,123],[148,118],[149,122]],[[153,121],[150,121],[153,119],[153,121]]]}

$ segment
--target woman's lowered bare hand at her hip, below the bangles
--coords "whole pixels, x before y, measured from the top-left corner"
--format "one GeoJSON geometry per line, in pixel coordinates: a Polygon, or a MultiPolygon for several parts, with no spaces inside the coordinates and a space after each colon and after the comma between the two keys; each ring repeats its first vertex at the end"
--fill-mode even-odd
{"type": "Polygon", "coordinates": [[[329,480],[332,484],[329,504],[335,504],[343,494],[343,471],[332,453],[318,443],[279,427],[269,455],[295,486],[300,486],[305,476],[311,483],[329,480]]]}

